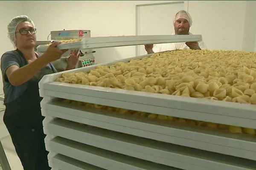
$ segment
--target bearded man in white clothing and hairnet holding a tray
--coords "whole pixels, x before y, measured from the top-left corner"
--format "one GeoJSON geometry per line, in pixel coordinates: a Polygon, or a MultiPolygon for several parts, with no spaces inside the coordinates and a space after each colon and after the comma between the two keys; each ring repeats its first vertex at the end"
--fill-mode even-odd
{"type": "MultiPolygon", "coordinates": [[[[175,29],[175,35],[192,35],[189,32],[189,28],[192,25],[192,18],[187,11],[181,10],[175,14],[173,25],[175,29]]],[[[174,34],[172,34],[174,35],[174,34]]],[[[206,49],[206,45],[203,41],[199,42],[174,42],[174,43],[164,43],[164,44],[146,44],[145,50],[148,54],[160,52],[160,51],[171,51],[171,50],[183,50],[183,49],[193,49],[201,50],[206,49]]]]}

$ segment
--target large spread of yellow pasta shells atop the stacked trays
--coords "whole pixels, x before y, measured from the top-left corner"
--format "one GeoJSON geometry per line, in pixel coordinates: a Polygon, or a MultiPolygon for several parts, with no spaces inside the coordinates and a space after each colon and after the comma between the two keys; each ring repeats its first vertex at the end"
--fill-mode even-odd
{"type": "Polygon", "coordinates": [[[256,53],[177,50],[63,73],[58,82],[256,104],[256,53]]]}

